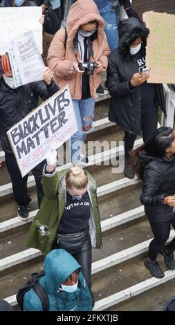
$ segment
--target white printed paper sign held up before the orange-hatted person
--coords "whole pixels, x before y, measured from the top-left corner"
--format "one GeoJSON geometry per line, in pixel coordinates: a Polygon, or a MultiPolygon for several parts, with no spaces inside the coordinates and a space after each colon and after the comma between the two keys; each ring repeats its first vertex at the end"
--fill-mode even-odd
{"type": "Polygon", "coordinates": [[[44,62],[33,36],[33,31],[12,39],[12,53],[22,84],[30,84],[43,79],[44,62]]]}

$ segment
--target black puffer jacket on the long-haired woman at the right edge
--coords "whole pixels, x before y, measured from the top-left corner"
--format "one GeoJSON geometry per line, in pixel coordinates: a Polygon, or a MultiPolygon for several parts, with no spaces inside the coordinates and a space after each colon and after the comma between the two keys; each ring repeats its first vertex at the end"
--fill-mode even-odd
{"type": "Polygon", "coordinates": [[[147,217],[153,221],[174,219],[173,207],[164,205],[163,198],[175,194],[175,155],[168,160],[149,157],[142,152],[140,162],[144,167],[140,201],[145,205],[147,217]]]}

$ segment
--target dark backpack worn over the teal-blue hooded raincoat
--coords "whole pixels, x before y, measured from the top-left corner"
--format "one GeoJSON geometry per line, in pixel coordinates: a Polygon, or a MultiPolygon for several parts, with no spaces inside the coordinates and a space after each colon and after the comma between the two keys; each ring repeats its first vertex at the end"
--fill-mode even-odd
{"type": "Polygon", "coordinates": [[[24,304],[24,295],[27,293],[31,288],[35,291],[36,295],[42,301],[42,306],[44,311],[49,310],[49,300],[48,295],[41,284],[39,284],[39,279],[44,277],[45,272],[33,273],[31,275],[31,279],[26,282],[24,287],[20,288],[17,293],[17,303],[19,304],[19,308],[24,311],[23,304],[24,304]]]}

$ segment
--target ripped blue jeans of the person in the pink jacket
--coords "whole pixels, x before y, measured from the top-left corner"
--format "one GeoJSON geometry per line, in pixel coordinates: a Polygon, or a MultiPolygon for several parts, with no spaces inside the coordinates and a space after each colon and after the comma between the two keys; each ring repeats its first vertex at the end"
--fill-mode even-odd
{"type": "Polygon", "coordinates": [[[77,132],[69,139],[69,153],[71,162],[77,163],[80,160],[82,151],[82,143],[87,133],[91,130],[95,100],[88,98],[87,100],[73,100],[73,107],[77,120],[77,132]],[[89,125],[89,131],[83,131],[83,126],[89,125]]]}

